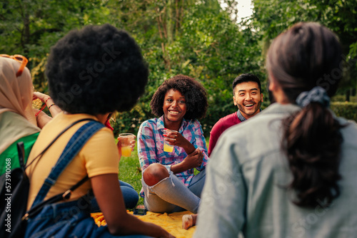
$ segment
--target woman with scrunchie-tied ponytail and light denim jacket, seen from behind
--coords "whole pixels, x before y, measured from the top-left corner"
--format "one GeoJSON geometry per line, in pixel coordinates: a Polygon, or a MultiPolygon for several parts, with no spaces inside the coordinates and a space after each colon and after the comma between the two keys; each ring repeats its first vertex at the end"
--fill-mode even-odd
{"type": "Polygon", "coordinates": [[[357,125],[329,109],[342,65],[338,38],[320,24],[271,43],[276,103],[218,140],[194,237],[356,237],[357,125]]]}

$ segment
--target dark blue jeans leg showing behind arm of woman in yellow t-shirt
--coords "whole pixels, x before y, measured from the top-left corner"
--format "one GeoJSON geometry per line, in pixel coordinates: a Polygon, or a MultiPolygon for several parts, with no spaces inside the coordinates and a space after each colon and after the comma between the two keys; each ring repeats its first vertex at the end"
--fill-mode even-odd
{"type": "MultiPolygon", "coordinates": [[[[136,192],[136,190],[134,190],[134,187],[129,185],[129,183],[127,182],[123,182],[119,180],[119,183],[120,183],[121,193],[123,194],[124,197],[124,203],[126,209],[134,209],[134,207],[139,201],[138,192],[136,192]]],[[[96,202],[95,197],[93,200],[91,200],[91,212],[101,212],[101,209],[99,208],[99,205],[96,202]]]]}

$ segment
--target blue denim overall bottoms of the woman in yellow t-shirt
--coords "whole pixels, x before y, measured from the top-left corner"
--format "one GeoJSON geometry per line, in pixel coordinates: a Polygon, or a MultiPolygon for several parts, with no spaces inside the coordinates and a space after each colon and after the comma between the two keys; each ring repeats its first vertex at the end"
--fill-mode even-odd
{"type": "Polygon", "coordinates": [[[121,237],[148,238],[144,235],[115,236],[107,226],[98,227],[90,216],[86,199],[46,205],[36,217],[28,220],[25,238],[46,237],[121,237]]]}

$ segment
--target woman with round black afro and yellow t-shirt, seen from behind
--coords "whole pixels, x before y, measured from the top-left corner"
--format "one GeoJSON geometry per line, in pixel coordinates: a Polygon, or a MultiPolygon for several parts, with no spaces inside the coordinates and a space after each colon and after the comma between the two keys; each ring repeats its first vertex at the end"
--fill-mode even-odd
{"type": "Polygon", "coordinates": [[[69,201],[46,205],[30,217],[25,237],[173,237],[161,227],[126,212],[118,180],[121,152],[110,128],[103,126],[89,138],[51,182],[48,192],[43,190],[69,139],[87,123],[83,119],[105,124],[110,113],[129,110],[144,93],[148,68],[134,38],[109,24],[70,31],[51,48],[46,76],[51,98],[63,112],[41,130],[29,155],[27,208],[65,192],[86,176],[89,180],[74,190],[69,201]],[[106,226],[98,227],[90,216],[91,191],[106,226]]]}

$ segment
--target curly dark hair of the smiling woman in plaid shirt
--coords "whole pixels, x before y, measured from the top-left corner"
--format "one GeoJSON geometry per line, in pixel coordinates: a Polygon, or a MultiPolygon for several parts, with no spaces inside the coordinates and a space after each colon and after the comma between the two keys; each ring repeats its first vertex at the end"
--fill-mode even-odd
{"type": "Polygon", "coordinates": [[[164,81],[154,93],[150,103],[151,112],[154,115],[158,117],[164,115],[162,109],[164,98],[171,89],[178,90],[185,96],[187,111],[184,118],[186,120],[201,119],[206,115],[208,106],[206,89],[194,78],[181,74],[164,81]]]}

